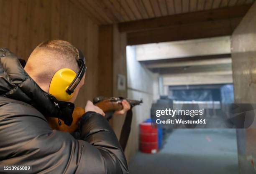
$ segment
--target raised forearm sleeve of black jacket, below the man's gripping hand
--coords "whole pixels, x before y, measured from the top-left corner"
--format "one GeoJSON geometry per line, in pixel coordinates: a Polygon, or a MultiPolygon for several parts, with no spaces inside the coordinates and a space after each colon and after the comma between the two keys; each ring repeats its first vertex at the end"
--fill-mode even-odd
{"type": "Polygon", "coordinates": [[[86,170],[81,164],[86,164],[91,156],[94,162],[99,164],[95,169],[91,168],[92,173],[127,174],[128,167],[123,150],[108,121],[99,113],[87,112],[83,116],[81,125],[80,138],[91,146],[83,142],[83,155],[78,173],[86,170]]]}

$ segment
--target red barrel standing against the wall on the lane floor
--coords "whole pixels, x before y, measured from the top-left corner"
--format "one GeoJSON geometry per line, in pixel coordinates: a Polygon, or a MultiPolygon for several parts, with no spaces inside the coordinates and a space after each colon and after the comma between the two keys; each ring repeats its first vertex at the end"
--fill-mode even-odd
{"type": "Polygon", "coordinates": [[[157,129],[151,123],[140,124],[140,151],[155,154],[158,151],[157,129]]]}

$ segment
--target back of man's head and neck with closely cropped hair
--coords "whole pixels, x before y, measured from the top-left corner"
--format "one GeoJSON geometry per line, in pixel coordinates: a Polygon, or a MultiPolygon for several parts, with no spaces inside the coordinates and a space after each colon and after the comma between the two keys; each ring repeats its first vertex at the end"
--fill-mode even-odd
{"type": "Polygon", "coordinates": [[[56,71],[70,68],[77,73],[78,50],[64,40],[48,40],[39,44],[31,53],[25,66],[27,73],[40,86],[50,84],[56,71]]]}

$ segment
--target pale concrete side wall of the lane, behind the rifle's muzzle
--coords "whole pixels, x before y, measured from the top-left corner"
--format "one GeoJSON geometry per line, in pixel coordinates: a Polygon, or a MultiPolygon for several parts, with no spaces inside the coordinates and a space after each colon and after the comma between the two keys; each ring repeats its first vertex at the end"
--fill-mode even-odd
{"type": "Polygon", "coordinates": [[[135,46],[127,46],[127,95],[128,98],[140,100],[141,106],[133,108],[133,121],[131,134],[125,154],[128,160],[138,151],[139,145],[139,124],[150,118],[150,108],[153,99],[157,98],[158,76],[151,73],[136,59],[135,46]]]}

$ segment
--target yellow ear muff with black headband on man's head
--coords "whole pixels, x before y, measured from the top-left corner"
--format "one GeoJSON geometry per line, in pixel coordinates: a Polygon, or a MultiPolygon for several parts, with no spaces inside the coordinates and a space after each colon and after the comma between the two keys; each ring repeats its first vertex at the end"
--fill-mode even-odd
{"type": "Polygon", "coordinates": [[[76,74],[69,68],[62,68],[57,71],[51,79],[49,93],[60,101],[69,101],[72,98],[75,88],[86,71],[84,55],[78,49],[77,53],[77,63],[79,65],[78,73],[76,74]]]}

